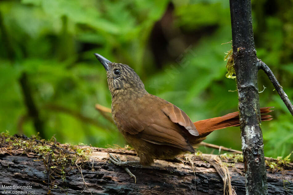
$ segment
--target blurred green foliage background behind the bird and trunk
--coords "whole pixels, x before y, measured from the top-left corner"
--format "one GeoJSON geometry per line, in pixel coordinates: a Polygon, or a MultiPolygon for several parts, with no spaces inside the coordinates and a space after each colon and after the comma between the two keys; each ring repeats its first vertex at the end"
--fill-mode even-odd
{"type": "MultiPolygon", "coordinates": [[[[293,100],[293,1],[253,0],[258,57],[293,100]]],[[[149,93],[174,103],[192,121],[237,111],[236,82],[225,77],[231,49],[229,1],[22,0],[0,2],[0,131],[97,147],[126,143],[95,110],[111,106],[106,73],[93,53],[128,64],[149,93]],[[229,91],[230,90],[230,91],[229,91]]],[[[293,118],[260,71],[266,156],[293,150],[293,118]]],[[[110,116],[110,115],[109,115],[110,116]]],[[[208,143],[241,150],[239,127],[208,143]]],[[[217,152],[201,147],[203,152],[217,152]]]]}

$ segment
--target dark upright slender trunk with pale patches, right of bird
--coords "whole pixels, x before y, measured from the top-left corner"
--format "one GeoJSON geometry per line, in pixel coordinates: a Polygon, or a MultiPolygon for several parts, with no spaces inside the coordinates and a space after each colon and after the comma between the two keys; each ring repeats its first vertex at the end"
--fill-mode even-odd
{"type": "Polygon", "coordinates": [[[246,194],[268,194],[250,0],[230,0],[230,13],[246,194]]]}

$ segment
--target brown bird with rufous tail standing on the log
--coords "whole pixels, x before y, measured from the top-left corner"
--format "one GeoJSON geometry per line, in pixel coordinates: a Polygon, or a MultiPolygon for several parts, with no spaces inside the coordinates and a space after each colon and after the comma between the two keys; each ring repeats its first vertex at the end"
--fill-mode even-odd
{"type": "MultiPolygon", "coordinates": [[[[148,93],[128,65],[112,63],[97,53],[95,56],[107,71],[113,120],[140,159],[122,162],[110,155],[110,161],[124,167],[135,181],[127,165],[146,166],[154,159],[174,159],[184,151],[195,152],[193,146],[212,131],[240,125],[238,112],[193,123],[183,110],[148,93]]],[[[261,113],[270,111],[270,107],[261,108],[261,113]]],[[[262,121],[271,120],[270,117],[262,115],[262,121]]]]}

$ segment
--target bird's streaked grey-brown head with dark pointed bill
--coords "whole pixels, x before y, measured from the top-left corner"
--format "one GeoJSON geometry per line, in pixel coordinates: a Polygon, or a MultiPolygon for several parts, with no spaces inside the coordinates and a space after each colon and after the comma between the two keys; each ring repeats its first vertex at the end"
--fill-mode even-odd
{"type": "Polygon", "coordinates": [[[128,65],[110,62],[97,53],[95,56],[107,71],[107,82],[112,97],[127,92],[134,92],[137,95],[147,93],[139,76],[128,65]]]}

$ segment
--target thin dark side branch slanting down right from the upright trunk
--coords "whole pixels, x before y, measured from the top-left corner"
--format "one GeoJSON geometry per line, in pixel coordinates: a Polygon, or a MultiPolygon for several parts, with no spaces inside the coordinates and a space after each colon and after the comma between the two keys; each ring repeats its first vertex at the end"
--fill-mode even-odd
{"type": "Polygon", "coordinates": [[[274,73],[271,71],[271,69],[260,59],[258,59],[258,67],[259,69],[262,69],[266,75],[269,77],[270,81],[273,83],[275,89],[279,93],[279,96],[287,106],[288,110],[293,116],[293,106],[292,103],[290,102],[287,94],[284,92],[283,87],[279,84],[278,80],[274,76],[274,73]]]}

